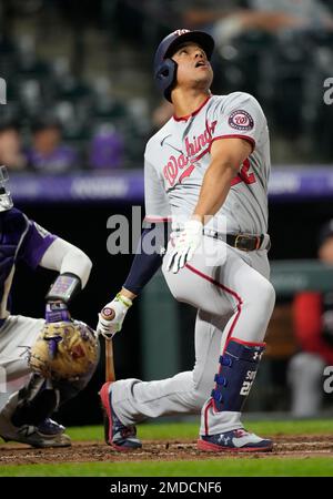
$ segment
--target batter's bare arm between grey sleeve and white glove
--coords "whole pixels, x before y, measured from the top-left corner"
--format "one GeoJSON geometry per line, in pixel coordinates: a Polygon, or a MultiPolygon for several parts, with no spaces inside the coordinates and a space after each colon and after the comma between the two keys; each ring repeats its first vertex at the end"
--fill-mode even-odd
{"type": "Polygon", "coordinates": [[[211,163],[204,174],[192,218],[205,224],[223,205],[243,161],[252,153],[244,139],[221,139],[212,143],[211,163]]]}

